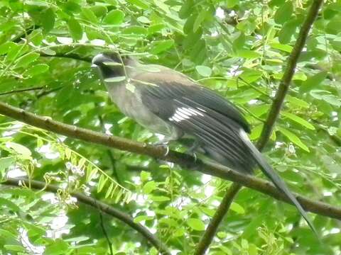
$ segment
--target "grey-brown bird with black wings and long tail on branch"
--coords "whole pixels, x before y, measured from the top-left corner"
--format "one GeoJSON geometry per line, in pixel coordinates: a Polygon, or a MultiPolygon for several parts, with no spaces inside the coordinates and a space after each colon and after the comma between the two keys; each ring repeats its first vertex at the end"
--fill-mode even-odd
{"type": "Polygon", "coordinates": [[[99,53],[92,67],[120,111],[167,142],[193,141],[195,152],[242,174],[259,166],[316,233],[296,196],[249,140],[249,123],[233,103],[181,72],[119,52],[99,53]]]}

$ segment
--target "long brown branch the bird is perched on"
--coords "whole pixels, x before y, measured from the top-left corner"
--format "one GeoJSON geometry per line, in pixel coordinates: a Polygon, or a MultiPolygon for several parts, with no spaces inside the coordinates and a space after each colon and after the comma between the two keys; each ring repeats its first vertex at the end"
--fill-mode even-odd
{"type": "MultiPolygon", "coordinates": [[[[165,156],[166,149],[163,147],[154,147],[152,145],[147,145],[141,142],[134,142],[122,137],[104,135],[100,132],[94,132],[85,128],[77,128],[74,125],[60,123],[48,117],[42,117],[33,113],[28,113],[20,108],[6,105],[6,103],[0,102],[0,114],[9,116],[16,120],[20,120],[23,123],[33,125],[37,128],[42,128],[44,130],[55,132],[60,135],[65,135],[67,137],[73,137],[85,142],[92,142],[97,145],[104,145],[107,147],[134,152],[137,154],[144,154],[149,157],[173,162],[175,164],[183,166],[184,169],[188,169],[189,171],[200,171],[201,173],[209,174],[211,176],[217,176],[221,179],[234,181],[241,184],[242,186],[252,188],[268,196],[272,196],[278,200],[282,200],[286,203],[291,204],[291,201],[289,201],[288,198],[286,198],[286,196],[281,193],[281,191],[278,191],[277,188],[269,183],[269,181],[264,181],[254,176],[240,174],[237,171],[233,171],[226,166],[222,166],[214,162],[202,162],[202,160],[195,159],[188,154],[174,151],[170,151],[165,156]]],[[[341,220],[341,208],[336,208],[326,203],[310,200],[309,198],[306,198],[304,196],[295,196],[301,203],[303,208],[305,208],[305,210],[315,212],[318,215],[324,215],[341,220]]]]}

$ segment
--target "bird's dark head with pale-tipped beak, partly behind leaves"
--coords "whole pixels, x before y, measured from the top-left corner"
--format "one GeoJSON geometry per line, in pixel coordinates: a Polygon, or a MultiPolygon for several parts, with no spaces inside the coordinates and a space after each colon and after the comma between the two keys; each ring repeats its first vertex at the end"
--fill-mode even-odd
{"type": "Polygon", "coordinates": [[[102,78],[124,77],[124,66],[129,65],[130,57],[121,56],[117,52],[100,53],[92,59],[92,67],[97,67],[102,78]]]}

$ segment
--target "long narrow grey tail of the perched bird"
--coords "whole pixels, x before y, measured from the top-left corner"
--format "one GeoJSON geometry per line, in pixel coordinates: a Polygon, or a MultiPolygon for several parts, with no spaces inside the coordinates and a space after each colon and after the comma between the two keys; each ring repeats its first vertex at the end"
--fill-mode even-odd
{"type": "Polygon", "coordinates": [[[310,229],[315,232],[316,236],[318,236],[318,233],[316,232],[316,229],[313,225],[313,223],[310,221],[307,213],[302,208],[302,205],[298,202],[295,196],[293,196],[293,193],[289,190],[288,186],[286,186],[286,183],[281,179],[281,177],[276,174],[274,169],[266,162],[264,159],[264,156],[259,152],[259,150],[254,146],[254,144],[249,140],[249,137],[247,137],[247,134],[244,131],[240,132],[240,135],[242,139],[244,140],[247,147],[249,147],[252,156],[256,160],[257,164],[261,168],[261,171],[274,183],[276,188],[278,188],[280,191],[286,194],[289,200],[296,206],[298,212],[301,213],[304,220],[308,223],[310,229]]]}

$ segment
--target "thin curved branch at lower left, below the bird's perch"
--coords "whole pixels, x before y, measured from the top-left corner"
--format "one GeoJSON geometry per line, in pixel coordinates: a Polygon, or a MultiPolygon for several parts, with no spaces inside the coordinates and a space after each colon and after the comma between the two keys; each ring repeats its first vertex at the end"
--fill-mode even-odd
{"type": "MultiPolygon", "coordinates": [[[[46,184],[45,182],[42,181],[34,180],[28,181],[28,179],[9,178],[6,181],[2,182],[1,184],[21,187],[21,183],[25,183],[26,186],[30,186],[31,188],[34,189],[38,190],[43,189],[45,191],[49,191],[52,193],[58,193],[58,190],[60,189],[60,187],[52,184],[46,184]]],[[[156,249],[158,249],[158,251],[160,251],[162,254],[167,255],[171,254],[166,248],[165,244],[163,244],[157,237],[151,234],[151,232],[149,232],[149,230],[146,227],[139,223],[135,223],[134,219],[130,215],[127,215],[126,213],[121,212],[120,210],[117,210],[116,208],[113,208],[112,206],[107,205],[106,203],[102,203],[99,200],[91,198],[90,196],[85,196],[82,193],[73,191],[70,193],[70,195],[77,198],[78,202],[84,203],[85,205],[90,205],[92,208],[100,210],[100,212],[105,212],[107,213],[107,215],[115,217],[118,220],[121,220],[121,222],[124,222],[126,225],[129,225],[131,228],[135,229],[137,232],[142,234],[148,240],[148,242],[153,244],[153,246],[155,246],[156,249]]]]}

